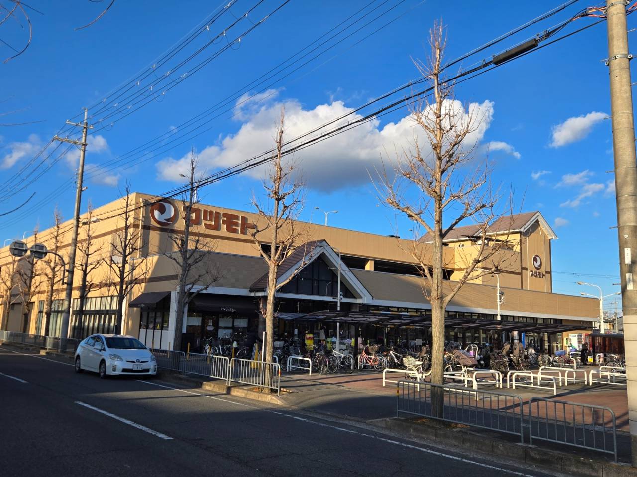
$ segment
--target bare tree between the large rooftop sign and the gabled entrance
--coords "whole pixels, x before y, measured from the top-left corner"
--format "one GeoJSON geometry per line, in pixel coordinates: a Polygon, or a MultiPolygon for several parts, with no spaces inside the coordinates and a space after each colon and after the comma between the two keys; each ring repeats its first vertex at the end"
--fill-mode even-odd
{"type": "Polygon", "coordinates": [[[264,361],[271,362],[274,351],[274,319],[275,319],[275,295],[276,291],[285,286],[296,275],[296,271],[307,265],[311,257],[311,247],[306,244],[307,230],[303,228],[297,219],[303,210],[304,186],[298,176],[294,174],[292,163],[282,163],[283,134],[285,127],[285,109],[281,109],[281,118],[276,125],[276,153],[271,163],[268,178],[263,187],[266,190],[268,202],[260,204],[256,197],[252,198],[252,204],[259,214],[259,223],[250,232],[261,257],[268,265],[268,288],[266,290],[266,305],[261,313],[266,320],[266,349],[264,361]],[[261,237],[269,233],[269,250],[261,247],[261,237]],[[277,282],[278,269],[290,252],[299,245],[304,246],[303,253],[299,256],[299,265],[296,270],[285,280],[277,282]]]}

